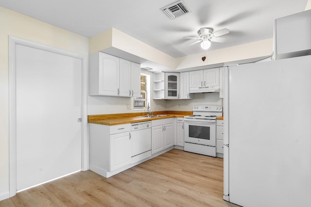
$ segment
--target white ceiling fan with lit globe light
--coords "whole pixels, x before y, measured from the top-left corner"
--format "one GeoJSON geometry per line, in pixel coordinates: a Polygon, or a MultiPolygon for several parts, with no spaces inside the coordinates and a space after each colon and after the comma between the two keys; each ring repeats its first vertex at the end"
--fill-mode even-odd
{"type": "Polygon", "coordinates": [[[188,46],[201,42],[201,47],[203,49],[208,49],[210,47],[211,42],[219,42],[219,43],[225,42],[226,38],[220,36],[225,35],[227,33],[229,33],[229,30],[226,28],[219,30],[217,32],[213,32],[213,28],[204,27],[200,28],[200,30],[198,31],[199,34],[198,37],[184,37],[184,38],[197,39],[196,42],[191,43],[188,46]]]}

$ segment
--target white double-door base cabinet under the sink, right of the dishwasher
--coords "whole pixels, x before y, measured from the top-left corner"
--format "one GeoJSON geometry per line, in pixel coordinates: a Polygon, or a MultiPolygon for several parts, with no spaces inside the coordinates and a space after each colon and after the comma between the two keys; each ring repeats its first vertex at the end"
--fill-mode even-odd
{"type": "Polygon", "coordinates": [[[173,118],[152,120],[151,125],[151,154],[174,145],[173,118]]]}

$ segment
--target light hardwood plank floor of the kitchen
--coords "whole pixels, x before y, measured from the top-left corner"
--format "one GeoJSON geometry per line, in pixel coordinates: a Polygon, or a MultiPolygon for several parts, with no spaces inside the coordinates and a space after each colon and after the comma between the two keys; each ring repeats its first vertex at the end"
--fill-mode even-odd
{"type": "Polygon", "coordinates": [[[173,149],[109,178],[81,171],[0,207],[238,207],[223,200],[223,159],[173,149]]]}

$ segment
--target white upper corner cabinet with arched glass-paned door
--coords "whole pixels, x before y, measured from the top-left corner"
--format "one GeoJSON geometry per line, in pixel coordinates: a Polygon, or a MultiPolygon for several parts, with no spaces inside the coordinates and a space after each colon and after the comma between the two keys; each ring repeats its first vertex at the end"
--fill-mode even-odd
{"type": "Polygon", "coordinates": [[[165,99],[179,99],[179,73],[165,73],[165,99]]]}

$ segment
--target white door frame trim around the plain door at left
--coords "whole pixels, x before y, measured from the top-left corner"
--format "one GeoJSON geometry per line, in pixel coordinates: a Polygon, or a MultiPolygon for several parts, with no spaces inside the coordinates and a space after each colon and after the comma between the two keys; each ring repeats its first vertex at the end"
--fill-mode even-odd
{"type": "Polygon", "coordinates": [[[69,56],[81,60],[82,67],[82,158],[81,170],[86,171],[88,167],[88,135],[87,135],[87,56],[74,53],[65,49],[55,48],[17,38],[9,35],[9,196],[17,193],[17,149],[16,149],[16,45],[40,49],[60,55],[69,56]]]}

